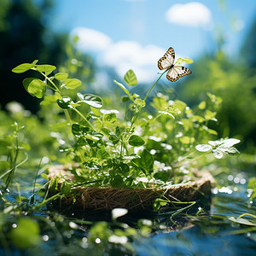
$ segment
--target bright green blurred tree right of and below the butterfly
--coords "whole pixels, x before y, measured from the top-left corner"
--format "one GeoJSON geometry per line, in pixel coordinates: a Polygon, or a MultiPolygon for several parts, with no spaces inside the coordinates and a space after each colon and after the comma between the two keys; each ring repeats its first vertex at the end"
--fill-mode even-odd
{"type": "MultiPolygon", "coordinates": [[[[244,148],[256,145],[256,76],[222,51],[205,55],[191,68],[194,76],[177,87],[177,95],[190,106],[205,100],[207,92],[223,99],[218,109],[219,137],[238,137],[244,148]]],[[[215,125],[214,123],[209,124],[215,125]]]]}

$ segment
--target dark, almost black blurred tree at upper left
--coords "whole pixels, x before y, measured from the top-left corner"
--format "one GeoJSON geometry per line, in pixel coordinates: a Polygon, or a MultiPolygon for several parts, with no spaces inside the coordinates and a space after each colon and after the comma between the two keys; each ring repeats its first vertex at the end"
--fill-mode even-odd
{"type": "Polygon", "coordinates": [[[29,96],[22,86],[27,73],[16,75],[11,69],[20,63],[38,59],[41,64],[57,65],[65,58],[67,35],[53,34],[47,28],[52,0],[0,1],[0,104],[22,103],[36,112],[38,99],[29,96]]]}

